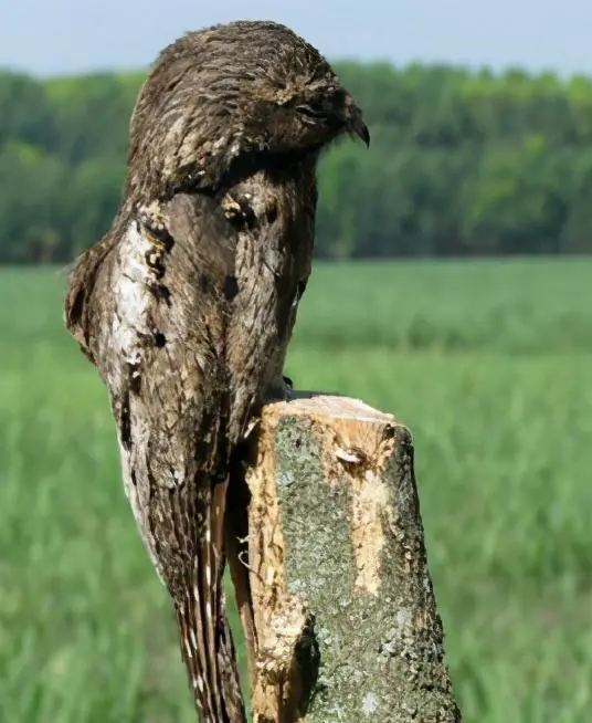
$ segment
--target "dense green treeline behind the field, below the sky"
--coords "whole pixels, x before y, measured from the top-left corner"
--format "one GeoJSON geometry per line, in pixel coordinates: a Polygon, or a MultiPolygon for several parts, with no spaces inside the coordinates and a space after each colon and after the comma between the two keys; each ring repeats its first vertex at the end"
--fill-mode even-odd
{"type": "MultiPolygon", "coordinates": [[[[338,64],[370,150],[323,161],[324,258],[592,251],[592,80],[338,64]]],[[[0,72],[0,262],[65,262],[115,213],[142,74],[0,72]]]]}

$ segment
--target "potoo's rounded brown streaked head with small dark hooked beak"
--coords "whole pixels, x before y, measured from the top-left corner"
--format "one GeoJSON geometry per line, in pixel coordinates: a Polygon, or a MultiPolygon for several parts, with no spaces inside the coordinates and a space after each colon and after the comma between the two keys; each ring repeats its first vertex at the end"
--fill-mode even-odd
{"type": "Polygon", "coordinates": [[[327,60],[285,25],[237,21],[162,51],[136,104],[129,166],[165,182],[203,167],[215,185],[241,157],[308,156],[343,135],[370,142],[327,60]]]}

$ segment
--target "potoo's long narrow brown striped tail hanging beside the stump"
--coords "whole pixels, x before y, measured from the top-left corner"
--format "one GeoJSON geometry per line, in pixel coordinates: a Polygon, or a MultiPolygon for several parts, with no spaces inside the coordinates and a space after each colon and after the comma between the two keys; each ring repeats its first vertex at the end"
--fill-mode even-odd
{"type": "Polygon", "coordinates": [[[210,486],[190,584],[176,600],[181,650],[202,723],[245,723],[234,645],[223,593],[228,480],[210,486]]]}

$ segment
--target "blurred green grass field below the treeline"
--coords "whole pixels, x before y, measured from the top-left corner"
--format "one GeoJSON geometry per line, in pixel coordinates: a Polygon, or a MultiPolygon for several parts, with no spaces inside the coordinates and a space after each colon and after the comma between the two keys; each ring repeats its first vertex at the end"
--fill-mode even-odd
{"type": "MultiPolygon", "coordinates": [[[[465,721],[592,710],[592,263],[317,265],[287,371],[415,439],[465,721]]],[[[0,721],[194,721],[64,274],[0,272],[0,721]]]]}

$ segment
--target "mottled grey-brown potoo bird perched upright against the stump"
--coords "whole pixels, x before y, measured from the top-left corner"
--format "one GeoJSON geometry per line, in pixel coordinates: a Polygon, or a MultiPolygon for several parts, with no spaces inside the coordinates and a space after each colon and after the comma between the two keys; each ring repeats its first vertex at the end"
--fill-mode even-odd
{"type": "Polygon", "coordinates": [[[329,63],[288,28],[239,21],[162,51],[130,123],[108,232],[68,279],[124,485],[177,614],[200,720],[244,721],[222,593],[231,459],[283,367],[310,273],[321,150],[369,143],[329,63]]]}

